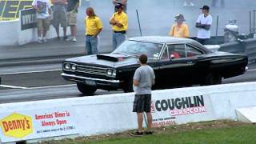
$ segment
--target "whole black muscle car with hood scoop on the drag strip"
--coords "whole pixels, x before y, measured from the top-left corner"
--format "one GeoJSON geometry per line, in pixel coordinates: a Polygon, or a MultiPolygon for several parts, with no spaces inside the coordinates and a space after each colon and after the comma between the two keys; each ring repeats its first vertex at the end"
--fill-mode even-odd
{"type": "Polygon", "coordinates": [[[66,59],[62,77],[77,82],[85,95],[97,89],[131,92],[140,54],[154,69],[153,89],[220,84],[222,78],[244,74],[248,63],[244,54],[214,53],[192,39],[148,36],[128,38],[110,54],[66,59]]]}

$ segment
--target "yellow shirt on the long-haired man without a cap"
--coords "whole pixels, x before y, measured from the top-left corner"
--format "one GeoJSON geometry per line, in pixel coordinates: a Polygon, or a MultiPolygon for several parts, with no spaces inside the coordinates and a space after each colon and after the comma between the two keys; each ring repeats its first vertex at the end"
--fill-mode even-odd
{"type": "Polygon", "coordinates": [[[102,21],[97,16],[89,18],[88,16],[85,19],[85,28],[86,35],[94,35],[98,33],[99,29],[102,29],[102,21]]]}

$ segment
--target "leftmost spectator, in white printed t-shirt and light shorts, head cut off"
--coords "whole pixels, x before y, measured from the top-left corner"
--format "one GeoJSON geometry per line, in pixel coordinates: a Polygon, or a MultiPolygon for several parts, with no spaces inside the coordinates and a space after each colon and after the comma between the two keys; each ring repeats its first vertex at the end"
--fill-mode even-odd
{"type": "Polygon", "coordinates": [[[32,7],[37,10],[38,42],[47,42],[46,33],[50,27],[50,2],[49,0],[34,0],[32,7]]]}

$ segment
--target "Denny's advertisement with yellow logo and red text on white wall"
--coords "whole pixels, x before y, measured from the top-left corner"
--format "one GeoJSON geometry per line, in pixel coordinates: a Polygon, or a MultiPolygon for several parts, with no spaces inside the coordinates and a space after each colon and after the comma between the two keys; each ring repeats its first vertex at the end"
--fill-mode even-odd
{"type": "Polygon", "coordinates": [[[71,107],[0,114],[0,143],[78,134],[71,107]]]}

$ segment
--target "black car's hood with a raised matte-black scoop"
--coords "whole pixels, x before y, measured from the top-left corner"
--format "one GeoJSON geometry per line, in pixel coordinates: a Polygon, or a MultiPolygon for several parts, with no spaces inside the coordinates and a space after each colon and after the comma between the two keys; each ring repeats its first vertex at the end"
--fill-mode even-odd
{"type": "Polygon", "coordinates": [[[138,58],[123,54],[98,54],[66,59],[66,62],[74,62],[90,66],[119,67],[138,64],[138,58]]]}

